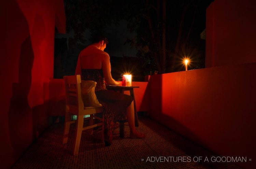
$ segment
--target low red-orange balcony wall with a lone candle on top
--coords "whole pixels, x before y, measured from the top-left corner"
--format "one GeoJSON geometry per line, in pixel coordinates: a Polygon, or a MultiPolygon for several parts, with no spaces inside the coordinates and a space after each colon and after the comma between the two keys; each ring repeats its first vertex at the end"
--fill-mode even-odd
{"type": "MultiPolygon", "coordinates": [[[[150,77],[149,114],[221,156],[255,159],[256,63],[150,77]]],[[[254,162],[239,164],[253,168],[254,162]]]]}

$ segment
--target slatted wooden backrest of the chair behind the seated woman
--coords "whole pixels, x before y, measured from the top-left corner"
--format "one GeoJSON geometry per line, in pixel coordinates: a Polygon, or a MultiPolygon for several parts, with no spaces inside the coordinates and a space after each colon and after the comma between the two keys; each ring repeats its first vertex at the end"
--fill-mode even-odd
{"type": "Polygon", "coordinates": [[[64,76],[66,88],[66,111],[74,115],[82,115],[84,102],[82,99],[81,76],[64,76]]]}

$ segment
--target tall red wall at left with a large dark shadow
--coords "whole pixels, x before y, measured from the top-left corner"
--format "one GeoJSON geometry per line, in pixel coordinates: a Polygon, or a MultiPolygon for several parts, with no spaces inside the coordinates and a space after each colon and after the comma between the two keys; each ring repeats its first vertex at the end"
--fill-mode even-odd
{"type": "Polygon", "coordinates": [[[55,20],[61,33],[66,23],[61,0],[8,0],[0,6],[0,168],[5,169],[48,126],[55,20]]]}

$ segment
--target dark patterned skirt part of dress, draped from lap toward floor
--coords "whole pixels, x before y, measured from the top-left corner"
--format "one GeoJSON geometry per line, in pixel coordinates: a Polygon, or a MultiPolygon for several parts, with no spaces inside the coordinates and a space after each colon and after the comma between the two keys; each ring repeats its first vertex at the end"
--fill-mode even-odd
{"type": "Polygon", "coordinates": [[[126,108],[131,104],[133,98],[129,95],[110,90],[96,91],[95,94],[103,106],[104,142],[106,146],[110,146],[112,143],[114,124],[117,120],[125,119],[126,108]]]}

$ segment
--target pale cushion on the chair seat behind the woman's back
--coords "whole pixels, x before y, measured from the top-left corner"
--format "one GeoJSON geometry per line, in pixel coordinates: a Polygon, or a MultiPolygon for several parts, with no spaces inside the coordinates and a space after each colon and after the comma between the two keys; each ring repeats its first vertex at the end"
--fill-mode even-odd
{"type": "Polygon", "coordinates": [[[84,106],[100,107],[102,106],[95,95],[96,82],[82,80],[82,95],[84,106]]]}

